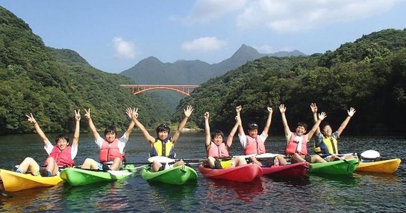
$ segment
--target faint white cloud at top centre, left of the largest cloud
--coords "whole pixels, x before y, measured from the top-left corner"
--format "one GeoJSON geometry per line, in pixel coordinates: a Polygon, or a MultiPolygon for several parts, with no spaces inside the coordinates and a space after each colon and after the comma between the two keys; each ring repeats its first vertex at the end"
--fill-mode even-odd
{"type": "Polygon", "coordinates": [[[243,9],[248,0],[197,0],[186,23],[208,22],[227,13],[243,9]]]}

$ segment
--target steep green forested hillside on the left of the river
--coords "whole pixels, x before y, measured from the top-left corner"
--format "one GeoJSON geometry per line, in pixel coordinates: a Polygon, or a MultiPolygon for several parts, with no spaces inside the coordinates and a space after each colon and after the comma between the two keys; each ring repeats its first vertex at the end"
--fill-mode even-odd
{"type": "MultiPolygon", "coordinates": [[[[46,47],[23,20],[0,7],[0,133],[29,133],[24,114],[32,113],[46,132],[72,131],[74,109],[90,108],[99,129],[125,129],[127,107],[140,108],[147,126],[169,120],[165,107],[121,84],[133,80],[95,69],[72,50],[46,47]]],[[[81,120],[81,128],[88,129],[81,120]]]]}

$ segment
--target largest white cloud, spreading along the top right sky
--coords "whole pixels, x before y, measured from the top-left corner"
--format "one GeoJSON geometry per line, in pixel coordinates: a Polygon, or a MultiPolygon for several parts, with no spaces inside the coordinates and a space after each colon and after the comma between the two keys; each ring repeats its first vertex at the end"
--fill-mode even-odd
{"type": "Polygon", "coordinates": [[[236,18],[241,28],[266,26],[289,32],[384,13],[398,0],[255,0],[236,18]]]}

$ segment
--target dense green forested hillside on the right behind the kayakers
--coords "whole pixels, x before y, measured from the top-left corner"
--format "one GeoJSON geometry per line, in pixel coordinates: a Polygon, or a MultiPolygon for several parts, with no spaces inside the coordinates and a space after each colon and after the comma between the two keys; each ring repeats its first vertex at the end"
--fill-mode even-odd
{"type": "MultiPolygon", "coordinates": [[[[334,129],[354,107],[356,114],[346,129],[352,134],[404,133],[406,127],[406,29],[386,29],[341,45],[324,54],[297,57],[263,57],[209,80],[179,109],[195,106],[192,120],[204,126],[229,130],[235,106],[243,105],[244,124],[266,120],[266,106],[274,109],[272,131],[282,132],[277,108],[287,106],[290,127],[299,121],[313,124],[310,103],[327,113],[334,129]]],[[[179,113],[175,119],[179,119],[179,113]]]]}

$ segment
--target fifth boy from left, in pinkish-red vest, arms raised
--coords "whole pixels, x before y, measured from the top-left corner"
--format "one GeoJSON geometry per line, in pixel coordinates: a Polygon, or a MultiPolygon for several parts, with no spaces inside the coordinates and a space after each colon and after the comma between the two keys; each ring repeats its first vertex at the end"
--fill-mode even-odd
{"type": "MultiPolygon", "coordinates": [[[[242,110],[241,105],[235,108],[235,111],[237,112],[237,117],[240,118],[240,112],[242,110]]],[[[263,131],[260,135],[258,135],[258,124],[255,122],[250,122],[248,123],[248,135],[244,133],[243,126],[240,122],[238,130],[238,137],[240,138],[240,143],[241,146],[244,148],[244,155],[250,155],[250,154],[264,154],[266,153],[265,150],[265,140],[266,137],[268,136],[268,131],[270,127],[270,121],[272,119],[272,113],[273,110],[270,107],[267,107],[267,110],[269,112],[268,119],[266,120],[265,127],[263,128],[263,131]]],[[[258,161],[255,157],[251,157],[250,161],[253,163],[261,166],[261,167],[270,167],[274,165],[274,159],[277,158],[279,160],[279,165],[283,166],[286,165],[286,160],[283,158],[281,155],[277,155],[274,158],[267,159],[264,161],[258,161]]]]}

